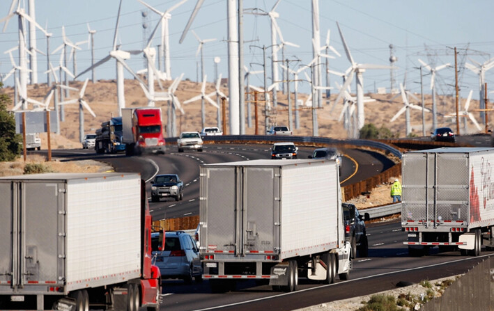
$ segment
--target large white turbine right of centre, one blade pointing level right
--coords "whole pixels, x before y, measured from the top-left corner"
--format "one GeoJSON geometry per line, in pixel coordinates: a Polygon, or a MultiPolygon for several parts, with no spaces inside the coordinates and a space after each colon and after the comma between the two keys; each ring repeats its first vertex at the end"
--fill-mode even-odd
{"type": "MultiPolygon", "coordinates": [[[[373,65],[373,64],[361,64],[361,63],[355,63],[353,61],[352,54],[350,54],[350,49],[348,48],[348,45],[346,44],[346,40],[344,38],[343,33],[341,32],[341,29],[339,27],[339,24],[337,22],[338,26],[338,31],[339,35],[341,37],[341,42],[343,43],[346,57],[348,58],[348,61],[350,61],[351,64],[351,69],[348,74],[346,74],[347,79],[345,80],[345,83],[341,87],[341,90],[346,90],[346,88],[352,83],[353,80],[353,74],[357,76],[357,129],[360,131],[362,127],[364,127],[364,122],[365,122],[365,112],[364,112],[364,77],[363,73],[365,72],[366,69],[389,69],[392,68],[391,66],[388,65],[373,65]]],[[[337,104],[339,99],[341,99],[341,96],[343,96],[342,93],[339,93],[337,99],[334,101],[334,105],[337,104]]],[[[334,108],[334,106],[333,106],[334,108]]]]}

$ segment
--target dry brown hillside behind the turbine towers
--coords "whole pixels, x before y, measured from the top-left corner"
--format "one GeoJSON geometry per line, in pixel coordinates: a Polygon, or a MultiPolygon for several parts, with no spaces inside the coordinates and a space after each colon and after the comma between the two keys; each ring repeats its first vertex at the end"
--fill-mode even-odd
{"type": "MultiPolygon", "coordinates": [[[[171,81],[164,82],[164,88],[167,88],[171,81]]],[[[75,88],[81,88],[83,81],[73,81],[70,86],[75,88]]],[[[180,102],[184,102],[195,95],[199,95],[201,85],[199,83],[194,83],[192,81],[182,81],[178,86],[176,95],[180,99],[180,102]]],[[[38,84],[33,86],[28,86],[28,96],[33,99],[41,100],[45,97],[47,93],[46,84],[38,84]]],[[[155,86],[155,90],[159,90],[159,86],[155,86]]],[[[3,88],[0,90],[2,93],[8,95],[13,95],[13,88],[3,88]]],[[[228,95],[228,88],[226,86],[222,88],[222,91],[228,95]]],[[[206,88],[206,93],[214,92],[214,84],[208,83],[206,88]]],[[[77,97],[76,92],[71,92],[70,98],[77,97]]],[[[377,95],[377,94],[366,94],[373,99],[375,102],[369,102],[365,104],[365,122],[372,122],[377,127],[385,126],[392,130],[393,133],[399,136],[405,136],[405,114],[403,113],[396,121],[390,123],[389,120],[392,116],[401,109],[403,104],[401,104],[401,97],[397,96],[393,101],[391,101],[394,95],[377,95]]],[[[334,100],[336,93],[332,93],[331,99],[334,100]]],[[[306,99],[307,94],[299,94],[300,99],[306,99]]],[[[107,120],[113,113],[117,115],[117,104],[116,104],[116,81],[115,80],[100,80],[97,83],[88,83],[86,89],[85,99],[91,106],[93,111],[96,113],[96,118],[86,113],[84,117],[84,127],[86,133],[92,133],[100,127],[101,122],[107,120]]],[[[278,95],[279,105],[277,108],[276,122],[278,125],[287,125],[288,123],[288,109],[286,95],[282,95],[279,92],[278,95]]],[[[432,100],[430,95],[425,95],[426,106],[431,108],[432,100]]],[[[465,99],[461,100],[461,106],[465,99]]],[[[139,84],[136,80],[125,80],[125,102],[128,107],[146,106],[147,99],[144,96],[139,84]]],[[[293,95],[292,95],[293,102],[293,95]]],[[[412,102],[410,100],[410,102],[412,102]]],[[[53,109],[53,100],[50,105],[53,109]]],[[[160,106],[163,109],[164,122],[167,122],[167,103],[157,102],[156,106],[160,106]]],[[[340,103],[330,114],[330,107],[332,104],[325,104],[323,109],[318,110],[318,124],[319,124],[319,136],[332,137],[332,138],[347,138],[347,133],[341,122],[338,122],[339,113],[341,112],[342,104],[340,103]]],[[[12,108],[13,104],[9,108],[12,108]]],[[[470,103],[470,110],[478,109],[479,102],[472,100],[470,103]]],[[[227,105],[228,109],[228,105],[227,105]]],[[[252,108],[253,109],[253,108],[252,108]]],[[[185,114],[181,114],[177,111],[177,127],[178,131],[190,131],[190,130],[200,130],[201,129],[201,102],[193,102],[184,105],[185,114]]],[[[215,126],[217,124],[216,108],[210,104],[206,104],[206,126],[215,126]]],[[[438,97],[438,113],[451,113],[454,112],[454,97],[438,97]]],[[[263,111],[259,109],[259,130],[260,134],[263,134],[263,111]]],[[[478,118],[478,112],[474,113],[478,118]]],[[[228,111],[226,113],[228,118],[228,111]]],[[[247,113],[246,113],[247,115],[247,113]]],[[[413,132],[418,136],[422,136],[422,112],[411,110],[411,123],[413,132]]],[[[254,113],[252,113],[254,118],[254,113]]],[[[490,118],[492,120],[492,118],[490,118]]],[[[438,125],[449,126],[456,130],[456,122],[451,118],[445,118],[442,115],[438,116],[438,125]]],[[[228,125],[228,122],[226,123],[228,125]]],[[[295,135],[311,135],[312,134],[312,121],[311,121],[311,110],[304,109],[300,111],[300,129],[293,129],[293,134],[295,135]]],[[[426,113],[426,125],[431,127],[432,117],[431,113],[426,113]]],[[[463,129],[463,127],[461,127],[463,129]]],[[[430,128],[426,129],[426,133],[429,134],[430,128]]],[[[472,122],[468,122],[469,133],[474,133],[477,128],[472,125],[472,122]]],[[[228,133],[228,129],[226,131],[228,133]]],[[[247,134],[254,134],[254,125],[252,127],[246,126],[247,134]]],[[[52,138],[52,147],[79,147],[79,110],[77,105],[67,105],[65,106],[65,122],[61,123],[61,137],[52,138]]],[[[46,139],[43,139],[46,142],[46,139]]],[[[43,146],[47,147],[46,145],[43,146]]]]}

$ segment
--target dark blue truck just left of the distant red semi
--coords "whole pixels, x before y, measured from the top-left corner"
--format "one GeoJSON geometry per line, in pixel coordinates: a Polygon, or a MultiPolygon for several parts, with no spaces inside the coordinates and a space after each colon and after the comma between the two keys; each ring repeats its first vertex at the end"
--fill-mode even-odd
{"type": "Polygon", "coordinates": [[[94,150],[98,154],[116,153],[125,151],[122,142],[122,117],[114,117],[102,122],[96,130],[94,150]]]}

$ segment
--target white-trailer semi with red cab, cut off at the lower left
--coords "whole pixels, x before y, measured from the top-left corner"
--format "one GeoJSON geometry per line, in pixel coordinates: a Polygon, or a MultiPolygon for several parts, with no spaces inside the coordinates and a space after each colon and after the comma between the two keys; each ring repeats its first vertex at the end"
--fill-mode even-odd
{"type": "Polygon", "coordinates": [[[139,174],[1,177],[0,194],[0,310],[159,310],[139,174]]]}

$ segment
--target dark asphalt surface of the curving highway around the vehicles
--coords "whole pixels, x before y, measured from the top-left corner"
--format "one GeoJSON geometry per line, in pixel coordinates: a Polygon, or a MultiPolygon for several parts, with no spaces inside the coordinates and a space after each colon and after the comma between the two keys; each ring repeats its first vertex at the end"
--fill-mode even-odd
{"type": "MultiPolygon", "coordinates": [[[[118,171],[141,173],[145,180],[158,173],[178,173],[184,181],[184,199],[150,203],[153,218],[176,218],[199,214],[199,165],[247,159],[269,159],[270,145],[205,145],[203,152],[178,153],[169,146],[167,154],[146,157],[125,157],[121,154],[96,155],[92,150],[54,150],[54,157],[97,159],[118,171]]],[[[299,158],[307,159],[313,147],[300,147],[299,158]]],[[[383,155],[365,150],[344,150],[342,184],[350,184],[376,175],[392,166],[383,155]]],[[[281,160],[282,161],[282,160],[281,160]]],[[[148,183],[148,188],[150,184],[148,183]]],[[[148,189],[149,190],[149,189],[148,189]]],[[[419,282],[456,276],[471,269],[482,257],[492,252],[483,250],[481,257],[463,257],[459,252],[438,253],[432,250],[427,257],[408,257],[403,246],[406,234],[398,221],[368,225],[369,257],[353,261],[349,281],[321,285],[309,280],[300,281],[294,293],[273,292],[268,285],[254,281],[238,283],[231,292],[212,294],[208,281],[185,285],[182,280],[164,281],[162,310],[295,310],[327,301],[373,294],[393,289],[396,283],[419,282]]]]}

